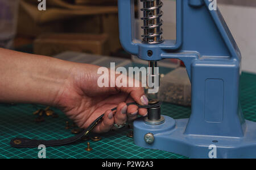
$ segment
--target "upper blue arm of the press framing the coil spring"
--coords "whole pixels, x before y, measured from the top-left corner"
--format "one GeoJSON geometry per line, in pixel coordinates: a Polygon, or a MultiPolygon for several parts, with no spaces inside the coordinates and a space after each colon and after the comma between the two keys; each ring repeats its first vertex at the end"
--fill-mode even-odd
{"type": "Polygon", "coordinates": [[[210,11],[208,0],[176,1],[176,40],[148,45],[134,38],[134,0],[119,0],[120,41],[139,59],[158,61],[175,58],[184,62],[191,78],[191,64],[201,56],[220,56],[241,61],[241,53],[220,11],[210,11]],[[199,27],[200,26],[200,27],[199,27]],[[147,52],[153,55],[148,56],[147,52]]]}

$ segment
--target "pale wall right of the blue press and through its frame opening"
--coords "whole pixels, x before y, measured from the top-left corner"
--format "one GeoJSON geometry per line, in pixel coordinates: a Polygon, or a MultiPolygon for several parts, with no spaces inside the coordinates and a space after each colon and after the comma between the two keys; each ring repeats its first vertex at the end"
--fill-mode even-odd
{"type": "MultiPolygon", "coordinates": [[[[163,0],[164,39],[175,39],[176,3],[163,0]]],[[[140,3],[141,4],[141,3],[140,3]]],[[[242,71],[256,73],[256,7],[218,4],[242,53],[242,71]]],[[[141,6],[139,6],[139,9],[141,6]]],[[[139,17],[141,18],[141,17],[139,17]]],[[[142,34],[141,20],[137,21],[137,38],[142,34]]]]}

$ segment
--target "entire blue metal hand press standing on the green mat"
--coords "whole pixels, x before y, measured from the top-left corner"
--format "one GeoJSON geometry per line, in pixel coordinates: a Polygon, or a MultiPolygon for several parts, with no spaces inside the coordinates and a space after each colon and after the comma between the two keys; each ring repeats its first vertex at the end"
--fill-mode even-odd
{"type": "MultiPolygon", "coordinates": [[[[156,2],[141,1],[145,4],[156,2]]],[[[150,38],[150,34],[146,34],[147,43],[134,39],[134,1],[118,1],[123,48],[142,60],[182,60],[192,85],[189,119],[164,116],[165,121],[160,125],[148,125],[144,119],[137,119],[134,121],[134,142],[144,148],[194,158],[209,158],[209,151],[214,146],[217,158],[255,158],[256,123],[243,118],[239,102],[240,49],[220,11],[209,9],[210,3],[209,0],[177,0],[176,40],[155,39],[158,42],[154,43],[146,39],[150,38]],[[151,144],[144,140],[148,132],[154,134],[151,144]]],[[[156,5],[160,9],[162,3],[156,5]]],[[[146,13],[150,7],[142,10],[146,13]]],[[[160,27],[159,23],[152,26],[154,24],[160,27]]],[[[159,38],[153,35],[156,36],[159,38]]]]}

